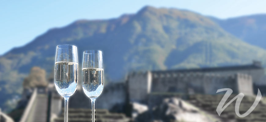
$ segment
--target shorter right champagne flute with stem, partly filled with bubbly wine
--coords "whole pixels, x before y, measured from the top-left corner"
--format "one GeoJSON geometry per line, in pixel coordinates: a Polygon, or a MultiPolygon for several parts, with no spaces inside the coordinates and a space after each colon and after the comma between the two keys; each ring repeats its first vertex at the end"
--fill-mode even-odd
{"type": "Polygon", "coordinates": [[[104,84],[102,51],[83,52],[82,77],[83,91],[91,99],[91,121],[95,122],[95,100],[101,95],[104,84]]]}

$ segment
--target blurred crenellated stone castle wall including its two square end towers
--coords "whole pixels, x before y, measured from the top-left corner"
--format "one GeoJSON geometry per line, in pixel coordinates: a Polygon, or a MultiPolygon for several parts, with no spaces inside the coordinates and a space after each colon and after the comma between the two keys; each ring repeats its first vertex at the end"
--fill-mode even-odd
{"type": "Polygon", "coordinates": [[[130,101],[142,101],[150,92],[176,92],[185,94],[216,94],[221,88],[231,88],[253,95],[252,77],[247,74],[147,72],[128,76],[130,101]],[[149,78],[151,77],[151,78],[149,78]],[[150,91],[148,90],[150,89],[150,91]]]}

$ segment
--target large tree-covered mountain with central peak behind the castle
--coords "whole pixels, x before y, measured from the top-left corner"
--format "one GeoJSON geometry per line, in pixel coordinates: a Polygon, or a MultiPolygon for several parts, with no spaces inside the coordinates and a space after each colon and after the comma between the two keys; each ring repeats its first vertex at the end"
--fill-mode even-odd
{"type": "MultiPolygon", "coordinates": [[[[226,32],[206,16],[187,10],[146,6],[135,14],[110,20],[78,20],[48,30],[25,46],[0,57],[1,106],[20,95],[31,67],[51,74],[56,45],[101,49],[105,77],[118,81],[131,70],[165,70],[251,63],[266,51],[226,32]]],[[[81,68],[81,65],[79,66],[81,68]]]]}

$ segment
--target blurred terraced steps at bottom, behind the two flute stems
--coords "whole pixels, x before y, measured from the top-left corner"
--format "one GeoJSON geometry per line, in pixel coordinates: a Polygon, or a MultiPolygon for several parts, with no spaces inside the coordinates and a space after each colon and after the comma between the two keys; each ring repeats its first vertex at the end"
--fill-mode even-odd
{"type": "MultiPolygon", "coordinates": [[[[96,122],[129,122],[122,113],[110,113],[107,109],[96,109],[96,122]]],[[[64,122],[64,109],[54,122],[64,122]]],[[[91,122],[91,109],[68,109],[68,122],[91,122]]]]}

